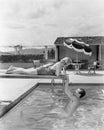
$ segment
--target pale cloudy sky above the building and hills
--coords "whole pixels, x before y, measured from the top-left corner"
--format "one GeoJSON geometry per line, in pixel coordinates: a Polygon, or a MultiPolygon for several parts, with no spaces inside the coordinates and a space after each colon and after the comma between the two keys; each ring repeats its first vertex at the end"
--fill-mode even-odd
{"type": "Polygon", "coordinates": [[[104,36],[104,0],[0,0],[0,46],[104,36]]]}

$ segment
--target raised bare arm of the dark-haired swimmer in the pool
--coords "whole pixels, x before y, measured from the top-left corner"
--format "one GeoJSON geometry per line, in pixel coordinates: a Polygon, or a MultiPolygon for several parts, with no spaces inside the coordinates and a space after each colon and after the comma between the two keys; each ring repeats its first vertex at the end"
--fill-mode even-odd
{"type": "Polygon", "coordinates": [[[67,96],[71,99],[71,100],[76,100],[76,96],[70,91],[69,88],[69,77],[66,77],[65,80],[65,93],[67,94],[67,96]]]}

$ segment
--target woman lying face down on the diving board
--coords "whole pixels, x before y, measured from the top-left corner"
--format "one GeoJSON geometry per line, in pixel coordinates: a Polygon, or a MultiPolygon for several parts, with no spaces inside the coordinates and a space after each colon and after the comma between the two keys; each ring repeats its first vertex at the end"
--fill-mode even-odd
{"type": "MultiPolygon", "coordinates": [[[[6,74],[32,74],[32,75],[61,75],[61,71],[64,69],[65,66],[71,63],[71,59],[69,57],[65,57],[61,59],[59,62],[55,63],[52,66],[44,67],[40,66],[37,68],[20,68],[10,66],[6,74]]],[[[64,71],[65,73],[65,71],[64,71]]]]}

